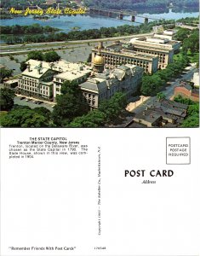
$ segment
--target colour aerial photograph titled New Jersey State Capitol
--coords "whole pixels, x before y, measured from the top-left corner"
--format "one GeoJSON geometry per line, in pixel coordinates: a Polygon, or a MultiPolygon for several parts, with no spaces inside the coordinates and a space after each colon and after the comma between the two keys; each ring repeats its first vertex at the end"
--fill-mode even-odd
{"type": "Polygon", "coordinates": [[[198,0],[2,0],[0,125],[199,127],[198,0]]]}

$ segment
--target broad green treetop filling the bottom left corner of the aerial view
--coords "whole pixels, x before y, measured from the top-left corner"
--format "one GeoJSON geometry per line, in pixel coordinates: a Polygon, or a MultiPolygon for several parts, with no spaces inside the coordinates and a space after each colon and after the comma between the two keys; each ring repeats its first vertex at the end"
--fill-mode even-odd
{"type": "Polygon", "coordinates": [[[49,119],[31,108],[14,108],[2,119],[3,127],[49,127],[49,119]]]}

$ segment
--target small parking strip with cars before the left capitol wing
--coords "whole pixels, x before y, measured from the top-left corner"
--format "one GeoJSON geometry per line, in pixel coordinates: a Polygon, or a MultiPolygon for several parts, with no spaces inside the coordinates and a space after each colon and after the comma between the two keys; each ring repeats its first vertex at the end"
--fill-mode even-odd
{"type": "Polygon", "coordinates": [[[43,102],[38,99],[20,96],[20,95],[14,97],[14,104],[17,104],[20,106],[28,106],[29,108],[44,107],[44,108],[48,108],[51,112],[54,109],[53,102],[43,102]]]}

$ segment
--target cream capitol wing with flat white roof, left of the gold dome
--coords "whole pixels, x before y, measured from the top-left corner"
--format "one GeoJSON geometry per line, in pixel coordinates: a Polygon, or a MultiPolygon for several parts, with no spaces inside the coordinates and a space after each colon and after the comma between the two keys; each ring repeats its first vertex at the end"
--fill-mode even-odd
{"type": "Polygon", "coordinates": [[[21,73],[17,92],[36,98],[53,100],[66,80],[82,83],[89,77],[91,69],[81,63],[68,61],[26,61],[27,68],[21,73]]]}

